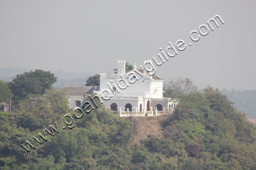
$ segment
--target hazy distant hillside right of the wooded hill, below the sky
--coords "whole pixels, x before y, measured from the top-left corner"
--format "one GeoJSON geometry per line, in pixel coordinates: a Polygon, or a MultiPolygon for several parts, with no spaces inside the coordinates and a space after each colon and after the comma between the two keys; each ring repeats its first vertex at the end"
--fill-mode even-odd
{"type": "Polygon", "coordinates": [[[223,89],[220,92],[227,95],[229,100],[235,102],[234,106],[245,112],[249,119],[256,119],[256,90],[228,91],[223,89]]]}

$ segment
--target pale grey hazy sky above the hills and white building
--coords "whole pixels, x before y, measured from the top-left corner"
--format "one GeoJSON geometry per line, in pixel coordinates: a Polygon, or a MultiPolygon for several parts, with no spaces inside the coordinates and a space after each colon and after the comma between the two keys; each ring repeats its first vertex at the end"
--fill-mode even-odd
{"type": "Polygon", "coordinates": [[[109,73],[118,59],[138,67],[183,39],[187,48],[156,75],[256,90],[255,8],[255,0],[0,0],[0,67],[109,73]],[[215,15],[225,24],[191,41],[190,32],[215,15]]]}

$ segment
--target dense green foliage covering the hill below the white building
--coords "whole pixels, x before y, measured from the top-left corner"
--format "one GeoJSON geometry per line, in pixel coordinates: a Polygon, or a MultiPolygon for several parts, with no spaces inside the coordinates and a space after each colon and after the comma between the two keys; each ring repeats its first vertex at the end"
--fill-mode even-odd
{"type": "Polygon", "coordinates": [[[14,113],[0,113],[3,170],[256,169],[255,126],[211,87],[181,97],[162,122],[164,137],[140,143],[133,143],[136,117],[119,118],[104,105],[67,128],[62,117],[71,110],[61,91],[47,90],[19,104],[14,113]],[[42,145],[35,141],[29,153],[20,146],[55,121],[59,134],[47,135],[42,145]]]}

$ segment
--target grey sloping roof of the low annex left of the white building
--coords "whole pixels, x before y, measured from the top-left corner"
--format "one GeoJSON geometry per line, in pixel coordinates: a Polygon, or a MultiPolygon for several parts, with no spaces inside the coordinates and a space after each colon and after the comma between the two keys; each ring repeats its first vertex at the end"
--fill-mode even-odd
{"type": "Polygon", "coordinates": [[[61,90],[65,90],[65,94],[67,96],[69,95],[81,95],[84,94],[88,96],[89,94],[92,94],[93,91],[99,91],[99,86],[64,86],[61,88],[61,90]]]}

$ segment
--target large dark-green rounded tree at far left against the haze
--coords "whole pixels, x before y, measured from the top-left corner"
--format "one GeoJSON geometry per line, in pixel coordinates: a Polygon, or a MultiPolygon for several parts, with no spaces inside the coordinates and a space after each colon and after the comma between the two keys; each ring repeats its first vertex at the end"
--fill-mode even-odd
{"type": "Polygon", "coordinates": [[[28,93],[43,94],[45,90],[52,88],[52,84],[57,82],[57,77],[50,71],[35,70],[16,75],[9,87],[14,93],[14,97],[24,98],[28,93]]]}

